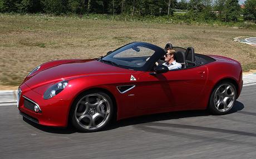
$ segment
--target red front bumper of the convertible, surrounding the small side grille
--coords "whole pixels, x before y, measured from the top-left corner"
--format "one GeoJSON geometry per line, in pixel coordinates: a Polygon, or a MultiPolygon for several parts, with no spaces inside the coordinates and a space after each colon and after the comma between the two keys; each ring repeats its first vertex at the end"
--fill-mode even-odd
{"type": "Polygon", "coordinates": [[[43,95],[36,93],[22,84],[22,93],[19,98],[18,109],[20,114],[27,119],[46,126],[66,127],[71,100],[62,99],[43,99],[43,95]],[[37,104],[41,111],[35,112],[31,107],[24,106],[25,99],[29,99],[37,104]]]}

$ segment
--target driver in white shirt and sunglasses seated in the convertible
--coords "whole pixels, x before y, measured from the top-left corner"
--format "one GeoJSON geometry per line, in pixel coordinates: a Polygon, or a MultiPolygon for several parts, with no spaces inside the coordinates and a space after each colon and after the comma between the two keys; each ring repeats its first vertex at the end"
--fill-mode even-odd
{"type": "Polygon", "coordinates": [[[177,63],[176,60],[174,59],[174,54],[175,54],[175,50],[168,48],[167,53],[164,55],[165,63],[163,63],[163,65],[167,66],[169,70],[181,68],[181,64],[177,63]]]}

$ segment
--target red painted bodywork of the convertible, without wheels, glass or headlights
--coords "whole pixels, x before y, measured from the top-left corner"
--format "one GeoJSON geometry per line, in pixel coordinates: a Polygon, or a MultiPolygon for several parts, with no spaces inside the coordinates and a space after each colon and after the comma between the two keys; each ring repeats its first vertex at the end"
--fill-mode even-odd
{"type": "Polygon", "coordinates": [[[102,89],[112,94],[117,120],[167,111],[203,110],[211,91],[223,79],[232,79],[238,96],[242,90],[242,68],[229,58],[211,56],[216,61],[194,68],[150,75],[149,71],[119,68],[97,60],[58,60],[45,63],[19,86],[22,89],[18,109],[38,120],[39,124],[65,127],[73,101],[89,89],[102,89]],[[131,75],[136,80],[130,80],[131,75]],[[43,93],[55,83],[67,80],[60,94],[43,99],[43,93]],[[120,85],[135,85],[122,94],[120,85]],[[38,105],[42,113],[24,107],[24,97],[38,105]]]}

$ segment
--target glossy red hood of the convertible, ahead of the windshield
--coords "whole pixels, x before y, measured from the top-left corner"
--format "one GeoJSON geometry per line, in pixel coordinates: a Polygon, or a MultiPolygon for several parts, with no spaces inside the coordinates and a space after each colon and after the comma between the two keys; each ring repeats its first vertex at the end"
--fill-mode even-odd
{"type": "MultiPolygon", "coordinates": [[[[36,89],[42,85],[48,88],[61,80],[78,78],[85,75],[132,73],[133,70],[119,68],[100,61],[91,60],[58,60],[42,64],[35,74],[28,76],[24,83],[30,89],[36,89]]],[[[38,92],[38,91],[37,91],[38,92]]],[[[39,92],[38,92],[39,93],[39,92]]]]}

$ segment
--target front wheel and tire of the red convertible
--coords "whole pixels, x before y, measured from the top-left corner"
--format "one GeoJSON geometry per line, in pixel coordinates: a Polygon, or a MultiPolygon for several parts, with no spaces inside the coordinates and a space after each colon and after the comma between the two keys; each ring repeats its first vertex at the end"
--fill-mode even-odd
{"type": "Polygon", "coordinates": [[[102,91],[88,91],[75,100],[71,109],[72,125],[82,132],[96,132],[110,124],[113,102],[102,91]]]}

